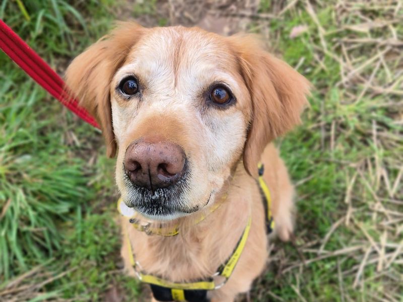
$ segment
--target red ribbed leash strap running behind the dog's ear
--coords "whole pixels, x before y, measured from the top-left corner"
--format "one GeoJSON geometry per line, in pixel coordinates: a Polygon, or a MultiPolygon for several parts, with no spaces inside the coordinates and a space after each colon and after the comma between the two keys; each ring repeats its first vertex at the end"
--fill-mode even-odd
{"type": "Polygon", "coordinates": [[[66,94],[64,90],[65,84],[59,75],[1,19],[0,48],[61,104],[87,123],[99,128],[94,117],[83,107],[79,106],[77,100],[66,94]]]}

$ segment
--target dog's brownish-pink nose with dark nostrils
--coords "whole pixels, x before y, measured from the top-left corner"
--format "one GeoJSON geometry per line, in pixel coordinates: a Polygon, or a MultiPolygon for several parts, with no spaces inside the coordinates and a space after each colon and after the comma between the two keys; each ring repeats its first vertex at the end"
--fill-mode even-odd
{"type": "Polygon", "coordinates": [[[133,184],[154,191],[177,183],[183,175],[185,160],[178,144],[135,141],[126,149],[124,168],[133,184]]]}

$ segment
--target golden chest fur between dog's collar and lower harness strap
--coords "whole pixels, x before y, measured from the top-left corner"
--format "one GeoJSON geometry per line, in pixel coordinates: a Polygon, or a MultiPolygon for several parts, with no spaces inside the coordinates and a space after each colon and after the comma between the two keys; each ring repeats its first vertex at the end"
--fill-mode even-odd
{"type": "Polygon", "coordinates": [[[221,222],[220,219],[208,219],[190,231],[172,237],[149,236],[131,229],[133,254],[145,273],[174,282],[205,279],[227,260],[243,231],[241,223],[240,228],[227,224],[224,228],[228,230],[218,232],[223,228],[221,222]],[[223,237],[223,234],[231,233],[235,236],[223,237]]]}

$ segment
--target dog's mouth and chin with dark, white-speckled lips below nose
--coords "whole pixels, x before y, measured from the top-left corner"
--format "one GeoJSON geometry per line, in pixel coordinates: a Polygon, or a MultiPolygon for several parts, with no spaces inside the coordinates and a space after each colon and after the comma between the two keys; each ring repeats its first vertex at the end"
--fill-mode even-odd
{"type": "Polygon", "coordinates": [[[126,174],[123,178],[127,192],[124,196],[125,204],[147,218],[168,220],[199,209],[199,206],[187,205],[185,193],[189,191],[189,186],[186,173],[176,184],[154,191],[133,184],[126,174]]]}

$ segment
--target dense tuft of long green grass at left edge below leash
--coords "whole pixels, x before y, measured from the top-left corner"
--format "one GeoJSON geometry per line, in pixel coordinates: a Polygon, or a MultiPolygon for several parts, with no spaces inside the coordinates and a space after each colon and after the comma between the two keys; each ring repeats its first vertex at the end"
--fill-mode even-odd
{"type": "Polygon", "coordinates": [[[60,248],[56,221],[94,196],[84,161],[68,156],[52,131],[54,119],[43,119],[48,110],[35,106],[45,93],[33,83],[19,86],[6,82],[14,91],[0,95],[0,275],[6,278],[52,257],[60,248]]]}

